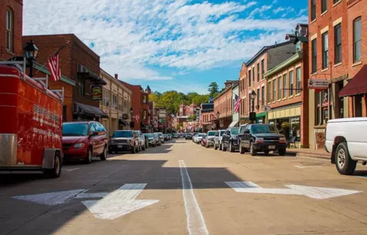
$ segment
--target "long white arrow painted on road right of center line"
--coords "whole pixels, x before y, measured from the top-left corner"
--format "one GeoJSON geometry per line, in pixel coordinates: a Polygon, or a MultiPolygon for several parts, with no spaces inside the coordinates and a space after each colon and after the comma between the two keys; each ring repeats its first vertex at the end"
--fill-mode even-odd
{"type": "Polygon", "coordinates": [[[362,193],[358,190],[346,190],[339,188],[321,188],[303,185],[285,185],[287,188],[261,188],[251,181],[225,182],[237,193],[269,193],[286,195],[305,195],[315,199],[327,199],[331,197],[341,197],[354,193],[362,193]]]}

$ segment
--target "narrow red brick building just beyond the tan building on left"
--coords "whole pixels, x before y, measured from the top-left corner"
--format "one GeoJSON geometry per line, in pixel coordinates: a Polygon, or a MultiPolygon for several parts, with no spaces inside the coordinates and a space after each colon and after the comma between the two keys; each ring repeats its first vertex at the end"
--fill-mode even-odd
{"type": "Polygon", "coordinates": [[[132,91],[131,107],[132,122],[134,122],[132,130],[141,130],[145,133],[149,132],[149,130],[152,128],[150,126],[152,112],[149,110],[149,94],[152,91],[150,90],[149,86],[147,86],[147,88],[144,90],[140,85],[128,84],[125,81],[120,81],[120,83],[132,91]]]}

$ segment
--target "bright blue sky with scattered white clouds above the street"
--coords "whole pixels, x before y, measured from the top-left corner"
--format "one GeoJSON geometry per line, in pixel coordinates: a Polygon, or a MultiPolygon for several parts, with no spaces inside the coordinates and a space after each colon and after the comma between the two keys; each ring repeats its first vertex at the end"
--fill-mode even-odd
{"type": "Polygon", "coordinates": [[[26,0],[23,35],[74,33],[101,68],[152,91],[208,93],[307,23],[307,1],[26,0]]]}

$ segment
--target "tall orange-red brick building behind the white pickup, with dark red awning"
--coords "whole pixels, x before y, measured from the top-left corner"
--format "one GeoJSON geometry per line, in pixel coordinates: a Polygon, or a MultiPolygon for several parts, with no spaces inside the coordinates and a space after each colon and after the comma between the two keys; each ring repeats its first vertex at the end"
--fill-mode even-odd
{"type": "Polygon", "coordinates": [[[310,0],[309,8],[310,82],[329,83],[309,91],[310,148],[322,149],[327,120],[367,115],[367,1],[310,0]]]}

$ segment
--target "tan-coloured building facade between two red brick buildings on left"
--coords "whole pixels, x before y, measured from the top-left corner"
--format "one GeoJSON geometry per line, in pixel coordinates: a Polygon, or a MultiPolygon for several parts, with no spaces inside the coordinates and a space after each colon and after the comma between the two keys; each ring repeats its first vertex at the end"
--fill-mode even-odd
{"type": "Polygon", "coordinates": [[[100,76],[106,82],[102,88],[100,108],[108,115],[102,120],[108,136],[115,130],[130,130],[132,92],[118,81],[118,74],[111,76],[101,69],[100,76]]]}

